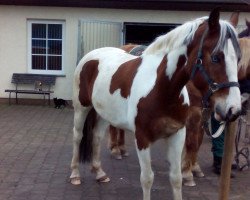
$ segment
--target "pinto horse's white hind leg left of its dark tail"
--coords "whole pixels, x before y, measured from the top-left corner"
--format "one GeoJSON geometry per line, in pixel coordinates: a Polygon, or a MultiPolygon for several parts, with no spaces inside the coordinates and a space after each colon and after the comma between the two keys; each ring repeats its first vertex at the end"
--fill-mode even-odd
{"type": "Polygon", "coordinates": [[[82,130],[85,119],[90,108],[75,109],[74,128],[73,128],[73,156],[71,161],[70,180],[73,185],[81,184],[79,172],[79,146],[83,137],[82,130]]]}

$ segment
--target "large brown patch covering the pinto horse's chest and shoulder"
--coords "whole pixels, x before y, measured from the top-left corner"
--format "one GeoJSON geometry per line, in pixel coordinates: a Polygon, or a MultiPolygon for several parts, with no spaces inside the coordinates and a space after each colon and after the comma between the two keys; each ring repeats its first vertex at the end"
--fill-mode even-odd
{"type": "Polygon", "coordinates": [[[147,97],[141,98],[135,119],[138,149],[144,149],[159,138],[166,138],[183,128],[188,105],[183,105],[181,90],[188,76],[183,70],[185,56],[180,56],[171,80],[166,76],[167,56],[158,67],[154,88],[147,97]]]}

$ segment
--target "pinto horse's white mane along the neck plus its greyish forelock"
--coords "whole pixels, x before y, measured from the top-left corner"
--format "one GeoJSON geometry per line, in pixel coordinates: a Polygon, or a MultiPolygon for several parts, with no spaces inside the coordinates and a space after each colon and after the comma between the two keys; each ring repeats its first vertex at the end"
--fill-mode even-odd
{"type": "MultiPolygon", "coordinates": [[[[184,23],[183,25],[173,29],[165,35],[159,36],[151,43],[143,54],[164,53],[188,45],[193,40],[196,30],[204,23],[208,17],[198,18],[193,21],[184,23]]],[[[220,37],[213,52],[227,48],[227,39],[231,38],[235,52],[240,57],[240,48],[237,41],[237,33],[233,26],[224,20],[220,20],[220,37]]]]}

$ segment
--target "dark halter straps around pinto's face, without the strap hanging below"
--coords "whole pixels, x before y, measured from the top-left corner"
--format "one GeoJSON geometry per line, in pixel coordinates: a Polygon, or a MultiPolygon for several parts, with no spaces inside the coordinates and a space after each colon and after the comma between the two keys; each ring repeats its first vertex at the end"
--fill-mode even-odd
{"type": "Polygon", "coordinates": [[[205,30],[205,32],[202,35],[200,46],[198,49],[196,63],[194,65],[194,67],[192,69],[192,73],[191,73],[191,79],[193,79],[196,71],[199,70],[201,72],[203,78],[208,83],[209,89],[208,89],[207,93],[202,97],[202,106],[205,109],[209,108],[209,99],[216,91],[223,89],[223,88],[240,87],[239,83],[235,82],[235,81],[231,81],[231,82],[227,82],[227,83],[216,83],[207,74],[207,72],[202,64],[202,47],[203,47],[204,38],[206,37],[207,33],[208,33],[208,28],[205,30]]]}

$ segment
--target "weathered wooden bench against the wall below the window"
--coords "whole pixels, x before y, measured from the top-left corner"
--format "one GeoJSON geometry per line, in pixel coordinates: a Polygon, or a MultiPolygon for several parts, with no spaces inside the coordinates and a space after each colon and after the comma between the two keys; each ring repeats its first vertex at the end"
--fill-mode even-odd
{"type": "Polygon", "coordinates": [[[43,95],[44,104],[46,103],[45,96],[48,96],[48,104],[50,105],[51,86],[55,85],[56,76],[43,74],[21,74],[13,73],[11,83],[14,83],[15,89],[6,89],[9,92],[9,105],[11,104],[11,93],[16,94],[16,104],[18,104],[17,94],[38,94],[43,95]],[[33,89],[19,89],[20,85],[33,85],[33,89]]]}

